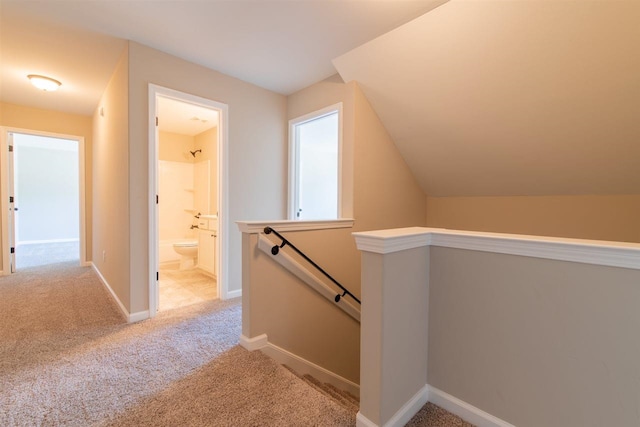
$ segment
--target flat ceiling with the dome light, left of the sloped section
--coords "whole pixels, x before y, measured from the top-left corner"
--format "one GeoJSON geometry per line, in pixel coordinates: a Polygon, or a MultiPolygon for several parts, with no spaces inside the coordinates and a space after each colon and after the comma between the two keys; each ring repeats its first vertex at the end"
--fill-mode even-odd
{"type": "Polygon", "coordinates": [[[0,99],[92,114],[124,40],[290,94],[331,60],[446,0],[1,0],[0,99]],[[36,92],[26,75],[60,80],[36,92]]]}

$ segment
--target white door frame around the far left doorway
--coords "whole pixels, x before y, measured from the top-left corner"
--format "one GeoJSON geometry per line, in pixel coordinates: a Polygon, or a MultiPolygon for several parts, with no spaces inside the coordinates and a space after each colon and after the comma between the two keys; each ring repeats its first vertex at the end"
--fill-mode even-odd
{"type": "Polygon", "coordinates": [[[0,195],[2,202],[0,203],[2,209],[2,274],[7,276],[11,274],[11,260],[10,260],[10,230],[12,226],[9,221],[9,215],[4,215],[9,212],[9,139],[10,134],[19,133],[23,135],[44,136],[48,138],[60,138],[78,143],[78,209],[80,213],[79,218],[79,238],[80,238],[80,265],[88,266],[87,262],[87,241],[86,241],[86,188],[85,188],[85,146],[84,137],[78,135],[67,135],[55,132],[38,131],[32,129],[22,129],[8,126],[0,126],[0,195]]]}

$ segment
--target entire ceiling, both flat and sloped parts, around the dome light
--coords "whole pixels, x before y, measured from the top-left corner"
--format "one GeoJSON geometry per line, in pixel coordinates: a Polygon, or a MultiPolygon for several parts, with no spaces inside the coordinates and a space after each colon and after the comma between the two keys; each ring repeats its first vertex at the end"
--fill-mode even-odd
{"type": "Polygon", "coordinates": [[[91,114],[130,39],[282,94],[337,70],[429,195],[640,194],[638,22],[636,0],[2,0],[0,100],[91,114]]]}

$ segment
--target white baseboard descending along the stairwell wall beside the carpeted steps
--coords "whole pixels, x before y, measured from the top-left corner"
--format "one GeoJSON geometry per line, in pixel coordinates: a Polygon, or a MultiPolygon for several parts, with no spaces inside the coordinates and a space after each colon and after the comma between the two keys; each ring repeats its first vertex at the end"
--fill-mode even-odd
{"type": "Polygon", "coordinates": [[[240,345],[250,351],[260,350],[281,365],[289,366],[300,375],[309,374],[321,382],[331,384],[354,396],[360,396],[358,384],[270,343],[266,334],[254,338],[247,338],[243,335],[240,337],[240,345]]]}

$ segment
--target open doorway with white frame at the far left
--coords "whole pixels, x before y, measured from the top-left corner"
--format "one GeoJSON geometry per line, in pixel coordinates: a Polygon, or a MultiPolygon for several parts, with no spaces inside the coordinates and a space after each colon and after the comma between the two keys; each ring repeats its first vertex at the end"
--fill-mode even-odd
{"type": "Polygon", "coordinates": [[[86,264],[83,138],[4,129],[1,180],[3,274],[86,264]]]}

